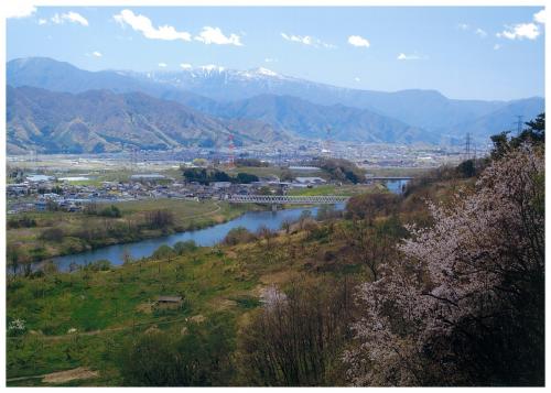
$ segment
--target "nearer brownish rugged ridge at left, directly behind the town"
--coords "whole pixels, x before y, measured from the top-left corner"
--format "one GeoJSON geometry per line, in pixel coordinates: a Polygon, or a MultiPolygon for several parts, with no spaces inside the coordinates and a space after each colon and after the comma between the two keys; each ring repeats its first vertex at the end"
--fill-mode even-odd
{"type": "Polygon", "coordinates": [[[288,141],[253,120],[220,120],[142,92],[88,90],[78,95],[33,87],[7,91],[8,151],[100,153],[128,148],[166,150],[288,141]]]}

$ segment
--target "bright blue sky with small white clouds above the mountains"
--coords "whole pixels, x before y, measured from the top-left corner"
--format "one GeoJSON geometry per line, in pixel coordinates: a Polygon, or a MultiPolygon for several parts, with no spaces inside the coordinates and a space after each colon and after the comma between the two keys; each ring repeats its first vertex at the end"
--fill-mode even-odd
{"type": "Polygon", "coordinates": [[[335,86],[449,98],[544,96],[541,7],[30,7],[7,59],[88,70],[263,67],[335,86]]]}

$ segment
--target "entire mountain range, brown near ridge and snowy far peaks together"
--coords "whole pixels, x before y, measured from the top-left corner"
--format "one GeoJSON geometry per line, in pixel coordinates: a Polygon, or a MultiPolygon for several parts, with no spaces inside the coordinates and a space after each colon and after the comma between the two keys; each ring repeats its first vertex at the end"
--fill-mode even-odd
{"type": "Polygon", "coordinates": [[[544,110],[540,97],[482,101],[449,99],[434,90],[357,90],[266,68],[88,72],[30,57],[8,63],[7,80],[13,87],[8,89],[9,152],[31,145],[44,152],[219,146],[230,132],[240,144],[323,139],[327,132],[334,140],[358,142],[458,143],[466,132],[487,141],[511,129],[517,116],[529,120],[544,110]],[[63,106],[52,108],[48,100],[63,106]]]}

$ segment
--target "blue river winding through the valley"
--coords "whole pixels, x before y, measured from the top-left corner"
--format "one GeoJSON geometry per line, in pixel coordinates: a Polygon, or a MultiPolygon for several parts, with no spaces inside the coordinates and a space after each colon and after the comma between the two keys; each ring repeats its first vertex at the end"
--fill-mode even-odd
{"type": "MultiPolygon", "coordinates": [[[[344,204],[336,205],[337,209],[343,209],[344,204]]],[[[269,229],[280,229],[284,221],[296,221],[304,210],[310,210],[315,217],[318,207],[284,209],[277,211],[250,211],[230,221],[213,227],[174,233],[161,238],[142,240],[133,243],[108,245],[100,249],[86,251],[77,254],[57,256],[53,261],[62,271],[68,271],[72,263],[84,265],[99,260],[108,260],[114,265],[122,264],[123,254],[129,253],[132,259],[150,256],[160,245],[174,245],[177,241],[193,240],[197,245],[214,245],[219,243],[226,234],[234,228],[244,227],[251,232],[258,231],[261,227],[269,229]]]]}

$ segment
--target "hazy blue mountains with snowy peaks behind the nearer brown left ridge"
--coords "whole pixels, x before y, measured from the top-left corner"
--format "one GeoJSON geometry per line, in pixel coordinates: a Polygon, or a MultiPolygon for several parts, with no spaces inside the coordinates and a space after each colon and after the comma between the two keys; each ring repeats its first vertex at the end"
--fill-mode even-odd
{"type": "Polygon", "coordinates": [[[539,97],[480,101],[449,99],[434,90],[356,90],[283,76],[266,68],[233,70],[207,66],[181,72],[88,72],[68,63],[31,57],[8,62],[7,78],[14,87],[72,94],[90,89],[116,94],[139,91],[179,102],[213,121],[220,118],[219,123],[240,122],[245,129],[255,124],[252,129],[257,130],[267,127],[279,138],[293,134],[320,139],[329,129],[331,138],[342,141],[460,143],[466,132],[487,141],[504,127],[510,128],[516,116],[529,120],[544,111],[544,100],[539,97]]]}

